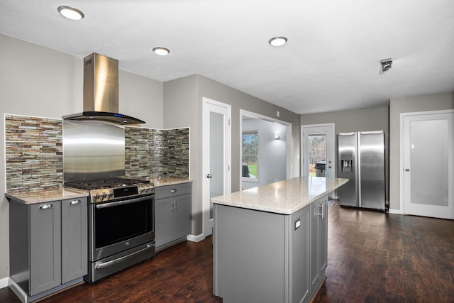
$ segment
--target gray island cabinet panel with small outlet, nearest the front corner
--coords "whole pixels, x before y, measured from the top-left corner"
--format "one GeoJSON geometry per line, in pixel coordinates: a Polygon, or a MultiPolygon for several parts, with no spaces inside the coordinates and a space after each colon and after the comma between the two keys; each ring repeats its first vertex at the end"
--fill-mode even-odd
{"type": "Polygon", "coordinates": [[[309,302],[311,298],[311,287],[309,282],[309,238],[311,207],[292,214],[290,222],[291,248],[289,257],[289,268],[292,280],[291,302],[309,302]]]}

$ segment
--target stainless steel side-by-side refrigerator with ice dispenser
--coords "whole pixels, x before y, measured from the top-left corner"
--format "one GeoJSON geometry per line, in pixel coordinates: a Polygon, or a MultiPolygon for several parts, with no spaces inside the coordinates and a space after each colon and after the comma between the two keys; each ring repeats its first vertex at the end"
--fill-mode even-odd
{"type": "Polygon", "coordinates": [[[339,204],[385,209],[384,131],[338,134],[339,204]]]}

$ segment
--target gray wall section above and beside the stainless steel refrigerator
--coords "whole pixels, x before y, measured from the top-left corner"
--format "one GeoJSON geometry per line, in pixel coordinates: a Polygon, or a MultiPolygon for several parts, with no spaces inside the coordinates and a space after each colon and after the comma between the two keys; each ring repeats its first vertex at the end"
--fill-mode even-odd
{"type": "MultiPolygon", "coordinates": [[[[334,123],[336,135],[350,131],[384,131],[386,156],[386,199],[389,200],[389,108],[388,106],[332,111],[320,114],[302,114],[301,126],[309,124],[334,123]]],[[[337,136],[336,136],[337,150],[337,136]]],[[[337,157],[337,155],[336,155],[337,157]]],[[[337,176],[336,159],[336,176],[337,176]]]]}

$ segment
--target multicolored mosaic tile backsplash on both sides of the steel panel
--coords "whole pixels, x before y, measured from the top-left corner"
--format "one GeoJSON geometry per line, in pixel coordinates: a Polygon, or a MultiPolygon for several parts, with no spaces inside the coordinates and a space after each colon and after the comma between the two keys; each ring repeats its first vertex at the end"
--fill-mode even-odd
{"type": "MultiPolygon", "coordinates": [[[[62,186],[62,120],[5,115],[6,191],[62,186]]],[[[189,128],[125,127],[125,177],[189,179],[189,128]]]]}

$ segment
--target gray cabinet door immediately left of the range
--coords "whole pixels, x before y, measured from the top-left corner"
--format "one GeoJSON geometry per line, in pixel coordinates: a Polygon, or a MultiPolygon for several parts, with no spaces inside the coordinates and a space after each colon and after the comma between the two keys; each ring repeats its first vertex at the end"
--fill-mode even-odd
{"type": "Polygon", "coordinates": [[[62,283],[87,275],[87,198],[62,201],[62,283]]]}

